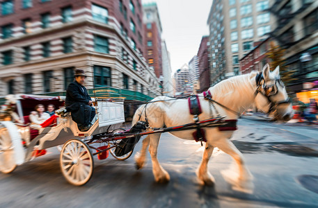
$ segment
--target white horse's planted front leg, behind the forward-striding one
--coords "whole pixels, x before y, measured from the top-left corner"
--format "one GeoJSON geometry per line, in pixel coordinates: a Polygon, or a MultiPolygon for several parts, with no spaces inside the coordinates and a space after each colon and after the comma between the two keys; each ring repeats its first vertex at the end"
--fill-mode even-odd
{"type": "Polygon", "coordinates": [[[198,176],[199,182],[202,184],[214,184],[214,177],[207,170],[207,164],[209,162],[209,158],[213,153],[213,149],[213,146],[207,143],[205,144],[205,152],[203,153],[202,162],[196,171],[196,175],[198,176]]]}

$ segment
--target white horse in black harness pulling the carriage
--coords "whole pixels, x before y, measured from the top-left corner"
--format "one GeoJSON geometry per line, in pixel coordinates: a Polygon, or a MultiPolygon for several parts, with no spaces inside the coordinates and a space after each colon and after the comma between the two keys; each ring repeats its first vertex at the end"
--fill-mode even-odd
{"type": "MultiPolygon", "coordinates": [[[[259,110],[274,114],[279,120],[288,121],[292,118],[292,105],[287,103],[288,96],[280,80],[279,67],[277,67],[275,71],[270,72],[269,65],[267,64],[262,73],[251,72],[246,75],[234,76],[223,80],[214,87],[210,87],[209,92],[215,101],[239,114],[251,107],[251,105],[256,105],[259,110]],[[257,89],[259,91],[257,91],[257,89]],[[259,93],[255,94],[255,92],[259,93]]],[[[202,94],[199,94],[199,96],[202,108],[202,114],[200,114],[199,119],[200,121],[210,119],[211,112],[209,102],[203,98],[202,94]]],[[[166,127],[172,127],[193,122],[193,115],[189,112],[189,105],[186,99],[171,101],[169,97],[159,96],[152,101],[159,102],[149,103],[146,107],[145,105],[141,105],[134,114],[133,125],[138,120],[145,121],[145,113],[151,128],[162,128],[164,125],[166,125],[166,127]]],[[[225,119],[238,119],[238,114],[220,105],[214,105],[221,116],[226,116],[225,119]]],[[[213,113],[216,115],[215,109],[213,113]]],[[[194,131],[195,130],[184,130],[170,133],[182,139],[193,140],[192,133],[194,131]]],[[[225,180],[232,184],[232,188],[251,189],[251,187],[253,187],[253,183],[251,182],[253,176],[250,171],[248,171],[242,154],[230,141],[233,133],[234,131],[232,130],[219,131],[218,128],[205,128],[207,142],[205,144],[202,162],[196,171],[201,184],[214,184],[214,177],[209,173],[207,164],[214,147],[218,147],[224,153],[230,155],[238,166],[237,172],[222,171],[225,180]]],[[[159,164],[157,159],[160,135],[161,134],[148,135],[148,137],[143,139],[141,152],[135,156],[136,167],[142,168],[144,166],[145,154],[149,146],[154,180],[156,182],[168,182],[170,176],[159,164]]]]}

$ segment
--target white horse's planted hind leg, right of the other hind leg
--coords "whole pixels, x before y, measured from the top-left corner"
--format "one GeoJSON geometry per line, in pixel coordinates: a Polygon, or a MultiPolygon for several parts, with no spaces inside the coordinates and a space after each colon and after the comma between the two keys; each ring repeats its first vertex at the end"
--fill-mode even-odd
{"type": "Polygon", "coordinates": [[[156,182],[168,182],[170,176],[167,171],[159,164],[157,159],[158,144],[161,134],[150,135],[149,153],[152,160],[152,173],[156,182]]]}

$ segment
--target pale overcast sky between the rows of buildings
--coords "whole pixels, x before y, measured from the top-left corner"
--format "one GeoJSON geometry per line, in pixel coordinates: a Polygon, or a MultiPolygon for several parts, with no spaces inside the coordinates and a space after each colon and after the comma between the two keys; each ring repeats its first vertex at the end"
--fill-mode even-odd
{"type": "Polygon", "coordinates": [[[156,2],[174,73],[198,53],[201,38],[209,35],[207,17],[212,0],[142,0],[156,2]]]}

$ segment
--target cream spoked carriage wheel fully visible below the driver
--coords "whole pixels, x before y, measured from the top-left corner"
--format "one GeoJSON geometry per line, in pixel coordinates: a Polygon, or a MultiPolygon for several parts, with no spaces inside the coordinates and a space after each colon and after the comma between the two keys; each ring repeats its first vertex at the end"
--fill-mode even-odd
{"type": "Polygon", "coordinates": [[[87,144],[80,139],[70,139],[61,150],[61,171],[70,184],[82,186],[93,175],[94,160],[87,144]]]}

